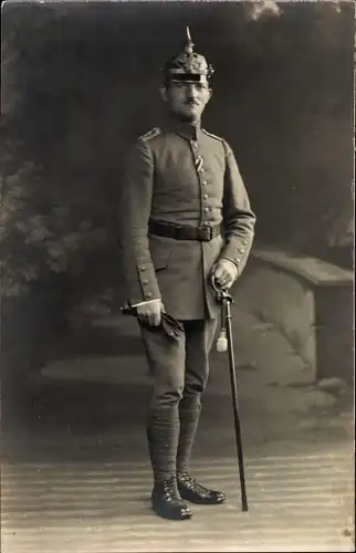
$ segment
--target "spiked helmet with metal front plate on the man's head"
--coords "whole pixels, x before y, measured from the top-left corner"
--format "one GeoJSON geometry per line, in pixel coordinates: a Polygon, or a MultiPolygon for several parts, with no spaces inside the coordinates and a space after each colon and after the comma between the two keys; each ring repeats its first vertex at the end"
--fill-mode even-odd
{"type": "Polygon", "coordinates": [[[193,42],[187,27],[187,43],[185,50],[170,58],[164,67],[165,83],[209,83],[213,75],[213,69],[208,64],[203,55],[193,51],[193,42]]]}

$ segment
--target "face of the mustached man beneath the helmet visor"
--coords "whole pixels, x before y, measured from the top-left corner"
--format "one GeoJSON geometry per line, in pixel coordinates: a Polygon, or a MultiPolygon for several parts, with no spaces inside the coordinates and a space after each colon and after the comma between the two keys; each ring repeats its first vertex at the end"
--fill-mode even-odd
{"type": "Polygon", "coordinates": [[[210,96],[208,84],[201,83],[172,82],[163,91],[169,111],[189,123],[200,119],[210,96]]]}

